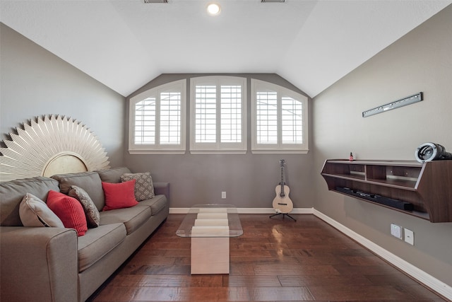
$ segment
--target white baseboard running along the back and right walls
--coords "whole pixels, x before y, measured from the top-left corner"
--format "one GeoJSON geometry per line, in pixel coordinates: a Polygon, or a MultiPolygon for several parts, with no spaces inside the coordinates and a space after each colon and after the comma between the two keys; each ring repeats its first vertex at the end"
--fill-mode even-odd
{"type": "MultiPolygon", "coordinates": [[[[170,208],[170,214],[186,214],[188,213],[190,208],[170,208]]],[[[275,210],[273,208],[238,208],[237,211],[239,214],[275,214],[275,210]]],[[[452,301],[452,287],[445,284],[443,281],[436,279],[427,272],[424,272],[422,269],[419,269],[412,265],[410,262],[403,260],[402,258],[394,255],[392,252],[381,248],[381,246],[376,245],[371,240],[359,235],[355,231],[352,231],[350,228],[347,228],[343,224],[331,219],[329,216],[321,213],[321,211],[317,211],[314,208],[297,208],[293,209],[290,214],[314,214],[319,219],[325,221],[329,225],[336,228],[338,231],[344,233],[346,236],[352,238],[357,241],[357,243],[363,245],[368,248],[376,255],[379,255],[384,260],[390,262],[392,265],[402,270],[406,274],[410,275],[410,277],[416,279],[420,283],[432,289],[436,293],[448,298],[452,301]]]]}

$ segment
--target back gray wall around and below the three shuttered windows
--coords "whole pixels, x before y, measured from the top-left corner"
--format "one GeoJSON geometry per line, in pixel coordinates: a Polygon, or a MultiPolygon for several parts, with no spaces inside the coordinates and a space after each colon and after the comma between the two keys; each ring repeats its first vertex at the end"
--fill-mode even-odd
{"type": "MultiPolygon", "coordinates": [[[[129,100],[133,95],[162,83],[187,79],[191,76],[206,75],[163,74],[129,95],[127,99],[129,100]]],[[[251,100],[251,77],[276,83],[302,93],[276,74],[228,75],[243,76],[248,79],[248,100],[251,100]]],[[[187,83],[187,86],[189,86],[189,83],[187,83]]],[[[189,98],[189,93],[187,95],[189,98]]],[[[189,106],[187,104],[187,108],[189,106]]],[[[190,127],[189,110],[187,111],[186,129],[188,138],[190,127]]],[[[251,112],[250,103],[248,103],[248,112],[251,112]]],[[[128,124],[129,117],[126,120],[126,128],[128,124]]],[[[247,129],[248,149],[250,150],[250,119],[247,129]]],[[[189,153],[189,139],[187,139],[186,150],[184,155],[131,155],[126,151],[125,163],[133,171],[149,170],[153,175],[153,180],[171,182],[170,207],[191,207],[193,204],[200,203],[229,203],[242,208],[270,208],[273,198],[275,198],[275,186],[280,182],[279,161],[284,158],[286,161],[285,181],[290,187],[290,199],[294,207],[313,206],[314,191],[311,190],[313,153],[311,151],[307,154],[251,154],[251,151],[248,151],[244,155],[191,155],[189,153]],[[226,199],[221,199],[222,191],[226,192],[226,199]]]]}

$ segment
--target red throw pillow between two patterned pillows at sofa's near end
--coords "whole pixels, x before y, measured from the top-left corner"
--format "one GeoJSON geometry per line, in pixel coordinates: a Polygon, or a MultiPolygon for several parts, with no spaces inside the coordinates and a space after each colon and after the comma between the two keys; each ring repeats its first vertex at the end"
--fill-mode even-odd
{"type": "Polygon", "coordinates": [[[88,231],[85,211],[77,199],[50,190],[47,196],[47,207],[61,219],[65,228],[75,228],[78,236],[83,236],[88,231]]]}

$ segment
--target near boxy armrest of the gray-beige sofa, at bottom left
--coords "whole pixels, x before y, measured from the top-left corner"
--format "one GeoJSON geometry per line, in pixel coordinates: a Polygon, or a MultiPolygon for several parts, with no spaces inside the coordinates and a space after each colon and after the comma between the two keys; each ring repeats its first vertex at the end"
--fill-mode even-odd
{"type": "Polygon", "coordinates": [[[72,228],[0,226],[2,301],[78,301],[72,228]]]}

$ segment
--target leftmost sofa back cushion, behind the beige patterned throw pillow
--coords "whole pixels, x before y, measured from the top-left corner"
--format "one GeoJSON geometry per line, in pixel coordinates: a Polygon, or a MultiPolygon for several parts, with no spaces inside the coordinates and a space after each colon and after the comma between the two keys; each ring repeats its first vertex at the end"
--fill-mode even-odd
{"type": "Polygon", "coordinates": [[[0,183],[0,226],[23,226],[19,216],[19,205],[25,193],[45,200],[49,190],[59,191],[57,180],[38,176],[0,183]]]}

